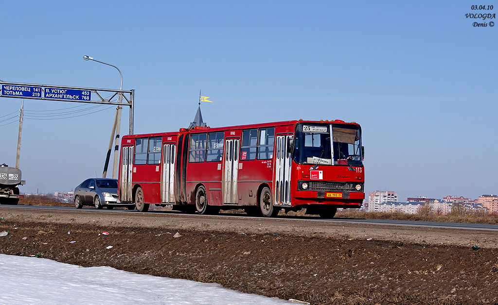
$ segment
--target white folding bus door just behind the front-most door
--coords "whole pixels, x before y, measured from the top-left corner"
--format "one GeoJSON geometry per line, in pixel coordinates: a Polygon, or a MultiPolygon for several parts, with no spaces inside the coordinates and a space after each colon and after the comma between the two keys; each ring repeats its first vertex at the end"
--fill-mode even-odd
{"type": "Polygon", "coordinates": [[[240,138],[225,140],[222,183],[223,203],[239,203],[237,200],[237,175],[239,172],[240,142],[240,138]]]}

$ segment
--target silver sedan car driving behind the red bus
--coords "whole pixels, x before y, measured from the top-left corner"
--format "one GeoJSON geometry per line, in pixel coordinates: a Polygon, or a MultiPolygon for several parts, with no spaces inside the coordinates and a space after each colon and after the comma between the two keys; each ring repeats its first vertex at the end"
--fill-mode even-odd
{"type": "MultiPolygon", "coordinates": [[[[90,178],[83,181],[74,190],[74,205],[82,208],[83,205],[94,205],[95,208],[131,205],[121,204],[118,198],[118,180],[108,178],[90,178]]],[[[134,205],[133,205],[134,206],[134,205]]]]}

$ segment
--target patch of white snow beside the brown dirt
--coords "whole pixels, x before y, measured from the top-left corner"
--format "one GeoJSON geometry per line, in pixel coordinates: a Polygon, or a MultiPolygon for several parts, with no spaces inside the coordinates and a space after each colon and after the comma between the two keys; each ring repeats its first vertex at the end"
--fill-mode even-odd
{"type": "Polygon", "coordinates": [[[84,268],[49,259],[0,254],[0,304],[9,305],[284,305],[187,280],[135,274],[111,267],[84,268]]]}

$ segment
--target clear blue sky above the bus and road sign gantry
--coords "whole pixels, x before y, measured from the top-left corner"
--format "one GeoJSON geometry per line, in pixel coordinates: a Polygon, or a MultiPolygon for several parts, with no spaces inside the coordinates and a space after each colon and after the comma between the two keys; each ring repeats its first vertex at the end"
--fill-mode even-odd
{"type": "MultiPolygon", "coordinates": [[[[116,65],[135,90],[135,133],[187,127],[200,89],[215,102],[202,105],[212,127],[356,121],[367,192],[475,199],[498,193],[498,28],[465,14],[496,13],[498,1],[481,3],[491,11],[472,4],[1,1],[0,79],[119,89],[116,69],[83,55],[116,65]]],[[[0,103],[4,116],[21,100],[0,103]]],[[[21,192],[70,191],[102,174],[114,108],[33,119],[74,106],[91,105],[25,101],[34,116],[23,123],[21,192]]],[[[18,124],[0,125],[0,162],[14,166],[18,124]]]]}

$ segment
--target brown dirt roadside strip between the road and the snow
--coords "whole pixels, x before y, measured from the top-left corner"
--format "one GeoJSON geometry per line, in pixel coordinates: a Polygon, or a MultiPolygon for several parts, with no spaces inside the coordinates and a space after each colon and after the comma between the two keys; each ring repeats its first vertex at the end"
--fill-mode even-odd
{"type": "Polygon", "coordinates": [[[9,231],[0,237],[4,254],[215,282],[313,305],[498,304],[494,231],[92,208],[1,206],[0,217],[0,232],[9,231]]]}

